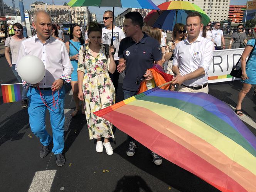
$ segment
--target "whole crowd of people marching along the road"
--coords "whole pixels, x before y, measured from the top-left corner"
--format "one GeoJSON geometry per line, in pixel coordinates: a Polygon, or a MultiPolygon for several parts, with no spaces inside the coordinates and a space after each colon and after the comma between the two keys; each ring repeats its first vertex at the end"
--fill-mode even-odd
{"type": "MultiPolygon", "coordinates": [[[[76,104],[71,116],[76,116],[81,110],[87,121],[89,139],[97,140],[96,152],[101,153],[105,148],[106,153],[112,155],[113,148],[109,138],[115,139],[113,125],[93,113],[115,104],[120,73],[125,72],[124,99],[138,93],[139,84],[135,82],[139,77],[144,77],[146,81],[153,78],[152,72],[148,70],[153,64],[163,67],[165,72],[173,75],[170,90],[208,93],[207,72],[212,63],[213,51],[225,49],[220,23],[216,22],[211,31],[211,22],[204,26],[202,17],[197,12],[187,16],[186,25],[175,24],[172,41],[169,42],[166,42],[163,30],[143,25],[143,17],[138,12],[127,13],[123,29],[120,29],[113,25],[113,12],[105,11],[105,27],[102,29],[100,24],[90,23],[85,31],[85,39],[81,27],[72,24],[69,30],[70,40],[65,44],[63,31],[59,25],[52,24],[48,12],[38,10],[33,19],[32,25],[36,33],[29,39],[23,37],[21,24],[13,24],[14,35],[5,40],[5,56],[18,81],[24,84],[22,107],[28,106],[31,130],[42,144],[40,157],[44,158],[52,150],[58,166],[65,163],[62,154],[65,121],[63,84],[71,83],[76,104]],[[37,56],[44,63],[46,73],[41,82],[27,86],[17,74],[19,60],[25,55],[37,56]],[[52,136],[45,129],[47,109],[50,112],[52,136]]],[[[231,38],[234,41],[232,47],[238,46],[237,38],[244,37],[241,32],[243,25],[237,28],[239,31],[231,38]]],[[[255,35],[256,28],[253,32],[255,35]]],[[[241,102],[251,85],[256,84],[256,49],[253,49],[255,39],[244,43],[247,44],[242,55],[241,81],[244,86],[239,93],[237,115],[243,115],[241,102]],[[245,58],[250,52],[250,61],[245,65],[245,58]]],[[[126,154],[131,157],[136,151],[136,141],[129,135],[127,140],[126,154]]],[[[150,153],[153,162],[160,165],[162,158],[153,151],[150,153]]]]}

